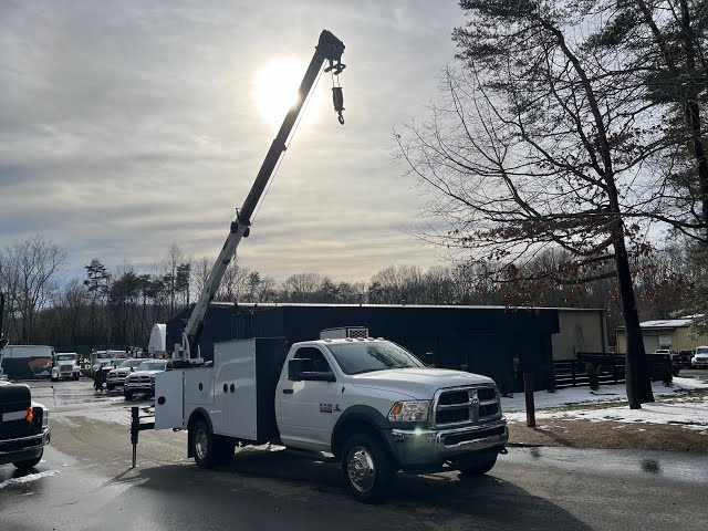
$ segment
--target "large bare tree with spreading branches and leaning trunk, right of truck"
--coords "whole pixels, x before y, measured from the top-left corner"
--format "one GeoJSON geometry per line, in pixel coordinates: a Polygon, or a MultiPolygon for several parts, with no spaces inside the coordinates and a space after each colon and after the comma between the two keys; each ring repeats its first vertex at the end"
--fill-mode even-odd
{"type": "MultiPolygon", "coordinates": [[[[617,58],[587,52],[573,2],[461,1],[461,70],[449,67],[431,118],[397,135],[410,176],[435,191],[428,237],[472,260],[503,263],[499,281],[558,247],[570,260],[528,280],[617,278],[627,331],[632,408],[652,402],[631,256],[647,252],[646,222],[666,220],[662,176],[645,171],[665,147],[617,58]],[[608,64],[610,63],[610,64],[608,64]],[[632,97],[629,97],[632,96],[632,97]],[[439,227],[439,226],[438,226],[439,227]]],[[[582,13],[581,13],[582,14],[582,13]]],[[[631,81],[631,80],[629,80],[631,81]]]]}

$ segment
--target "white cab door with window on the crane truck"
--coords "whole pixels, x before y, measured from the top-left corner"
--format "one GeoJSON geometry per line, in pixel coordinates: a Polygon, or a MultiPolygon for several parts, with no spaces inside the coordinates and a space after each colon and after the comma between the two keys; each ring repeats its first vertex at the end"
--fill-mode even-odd
{"type": "MultiPolygon", "coordinates": [[[[301,346],[293,358],[311,360],[312,372],[331,372],[325,355],[315,346],[301,346]]],[[[288,374],[288,367],[284,367],[288,374]]],[[[280,378],[275,389],[278,428],[285,445],[329,450],[341,412],[336,382],[292,382],[280,378]]]]}

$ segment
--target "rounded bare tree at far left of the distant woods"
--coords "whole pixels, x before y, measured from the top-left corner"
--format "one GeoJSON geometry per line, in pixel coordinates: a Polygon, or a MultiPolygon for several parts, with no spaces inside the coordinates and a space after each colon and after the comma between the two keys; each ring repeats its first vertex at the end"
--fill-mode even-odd
{"type": "Polygon", "coordinates": [[[65,260],[65,252],[41,236],[6,248],[0,274],[21,343],[33,341],[37,314],[51,302],[65,260]]]}

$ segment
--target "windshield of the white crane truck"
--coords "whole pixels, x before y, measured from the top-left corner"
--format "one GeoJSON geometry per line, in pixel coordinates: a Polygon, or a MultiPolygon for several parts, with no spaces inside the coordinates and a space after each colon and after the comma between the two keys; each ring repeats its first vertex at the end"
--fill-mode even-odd
{"type": "Polygon", "coordinates": [[[416,356],[389,342],[352,342],[327,345],[344,374],[362,374],[387,368],[425,367],[416,356]]]}

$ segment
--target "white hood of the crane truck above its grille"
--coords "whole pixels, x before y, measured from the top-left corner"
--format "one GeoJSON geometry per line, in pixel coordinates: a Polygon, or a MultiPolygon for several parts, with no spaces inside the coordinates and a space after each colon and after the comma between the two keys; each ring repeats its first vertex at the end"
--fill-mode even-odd
{"type": "Polygon", "coordinates": [[[433,399],[435,392],[464,385],[493,385],[493,379],[473,373],[448,368],[393,368],[355,374],[352,383],[357,387],[393,391],[420,400],[433,399]]]}

